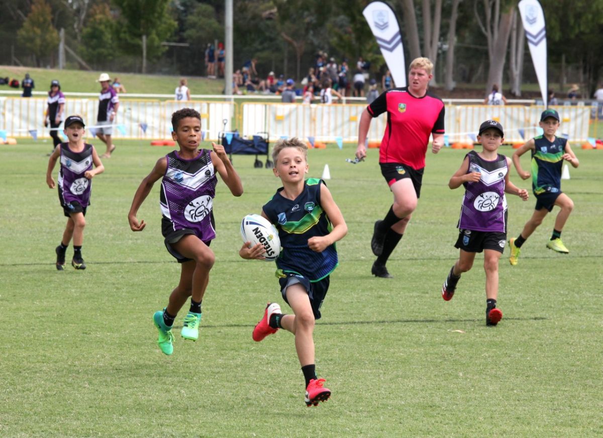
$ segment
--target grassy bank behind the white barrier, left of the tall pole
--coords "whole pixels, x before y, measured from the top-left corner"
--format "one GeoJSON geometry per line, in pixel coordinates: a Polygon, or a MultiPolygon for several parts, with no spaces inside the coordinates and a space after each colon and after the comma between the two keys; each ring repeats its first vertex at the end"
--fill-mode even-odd
{"type": "MultiPolygon", "coordinates": [[[[21,82],[25,73],[30,73],[34,79],[36,88],[34,91],[50,90],[50,82],[52,79],[58,79],[61,82],[61,90],[80,92],[80,93],[97,93],[100,90],[100,85],[96,82],[101,72],[87,72],[84,70],[51,70],[51,69],[35,69],[33,67],[13,67],[0,66],[0,77],[19,79],[21,82]]],[[[166,75],[142,75],[136,73],[109,73],[111,79],[119,77],[128,93],[148,93],[148,94],[174,94],[174,89],[180,83],[182,76],[166,76],[166,75]]],[[[221,94],[224,88],[224,80],[207,79],[200,77],[187,77],[188,87],[191,89],[191,94],[221,94]]],[[[2,87],[2,90],[15,90],[15,88],[2,87]]],[[[124,97],[128,96],[124,94],[124,97]]]]}

